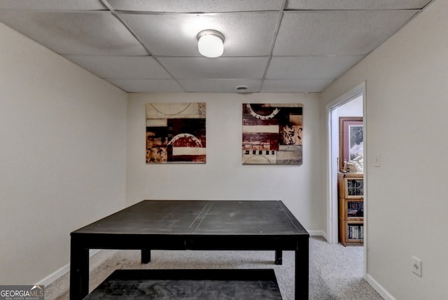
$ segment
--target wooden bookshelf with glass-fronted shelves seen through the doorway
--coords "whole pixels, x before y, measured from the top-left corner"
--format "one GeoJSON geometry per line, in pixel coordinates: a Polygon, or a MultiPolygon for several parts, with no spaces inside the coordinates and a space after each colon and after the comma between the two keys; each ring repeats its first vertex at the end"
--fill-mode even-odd
{"type": "Polygon", "coordinates": [[[338,173],[339,242],[344,245],[364,243],[363,174],[338,173]]]}

